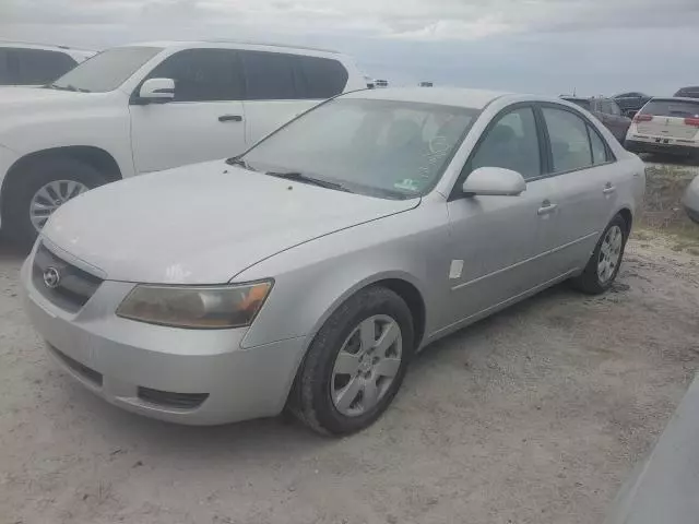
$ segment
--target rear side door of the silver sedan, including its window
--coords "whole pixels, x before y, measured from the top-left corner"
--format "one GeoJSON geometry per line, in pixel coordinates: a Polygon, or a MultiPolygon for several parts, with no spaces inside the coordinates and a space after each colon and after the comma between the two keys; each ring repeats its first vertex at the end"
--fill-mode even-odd
{"type": "Polygon", "coordinates": [[[541,106],[549,180],[557,207],[545,235],[547,271],[581,269],[616,209],[616,159],[592,122],[578,111],[541,106]]]}

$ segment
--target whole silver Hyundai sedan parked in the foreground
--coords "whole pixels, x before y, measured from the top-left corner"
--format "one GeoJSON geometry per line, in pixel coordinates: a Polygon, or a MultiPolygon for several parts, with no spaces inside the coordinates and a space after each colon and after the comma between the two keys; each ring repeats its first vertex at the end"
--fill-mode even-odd
{"type": "Polygon", "coordinates": [[[557,98],[375,90],[241,156],[137,177],[52,215],[22,270],[68,373],[193,425],[350,433],[431,342],[570,279],[614,282],[641,160],[557,98]]]}

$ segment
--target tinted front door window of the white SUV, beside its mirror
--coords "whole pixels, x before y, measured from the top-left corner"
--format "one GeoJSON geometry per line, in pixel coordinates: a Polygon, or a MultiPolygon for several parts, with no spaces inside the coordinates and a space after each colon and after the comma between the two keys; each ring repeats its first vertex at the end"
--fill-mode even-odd
{"type": "Polygon", "coordinates": [[[157,66],[149,79],[173,79],[175,102],[242,99],[242,75],[235,50],[186,49],[157,66]]]}

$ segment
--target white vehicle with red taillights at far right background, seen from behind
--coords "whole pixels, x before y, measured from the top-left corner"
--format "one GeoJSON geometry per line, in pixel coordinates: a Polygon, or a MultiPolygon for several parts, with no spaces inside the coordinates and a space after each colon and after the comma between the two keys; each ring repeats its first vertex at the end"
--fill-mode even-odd
{"type": "Polygon", "coordinates": [[[633,153],[699,158],[699,99],[653,98],[633,117],[624,144],[633,153]]]}

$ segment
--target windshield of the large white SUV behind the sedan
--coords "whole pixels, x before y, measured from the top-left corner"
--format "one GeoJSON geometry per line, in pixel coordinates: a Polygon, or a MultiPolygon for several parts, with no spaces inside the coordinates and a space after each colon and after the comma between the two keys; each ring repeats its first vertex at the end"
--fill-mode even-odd
{"type": "Polygon", "coordinates": [[[141,66],[162,50],[157,47],[108,49],[85,60],[51,86],[85,93],[107,93],[123,84],[141,66]]]}

